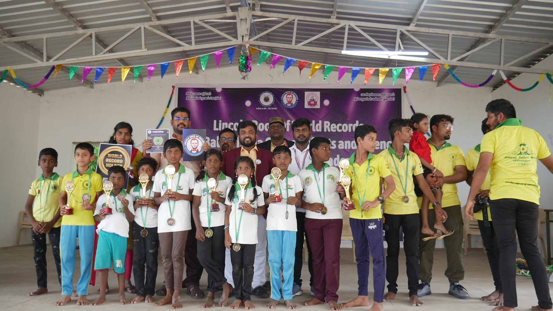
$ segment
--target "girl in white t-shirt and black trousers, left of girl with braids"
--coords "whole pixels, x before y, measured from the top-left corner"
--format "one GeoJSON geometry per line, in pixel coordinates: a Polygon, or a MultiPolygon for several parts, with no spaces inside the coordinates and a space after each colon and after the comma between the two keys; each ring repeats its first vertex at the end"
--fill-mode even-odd
{"type": "MultiPolygon", "coordinates": [[[[207,272],[207,293],[204,308],[215,307],[215,292],[223,288],[218,305],[225,307],[231,284],[225,278],[225,195],[232,178],[221,172],[223,155],[217,149],[204,153],[202,169],[192,192],[192,216],[196,224],[197,256],[207,272]],[[206,172],[204,172],[206,171],[206,172]],[[208,180],[215,180],[210,184],[208,180]],[[215,189],[213,189],[215,188],[215,189]],[[211,190],[214,191],[211,191],[211,190]]],[[[192,239],[193,237],[190,237],[192,239]]]]}

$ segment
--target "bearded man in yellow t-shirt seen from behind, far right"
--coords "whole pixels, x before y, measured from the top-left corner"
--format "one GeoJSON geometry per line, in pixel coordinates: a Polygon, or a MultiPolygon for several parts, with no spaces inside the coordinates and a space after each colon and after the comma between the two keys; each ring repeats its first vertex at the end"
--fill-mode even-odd
{"type": "Polygon", "coordinates": [[[480,191],[491,168],[489,189],[490,210],[499,246],[499,274],[504,293],[502,310],[518,307],[515,267],[517,240],[528,268],[539,307],[553,307],[544,261],[538,248],[538,219],[540,186],[538,184],[538,159],[553,173],[553,157],[540,134],[524,127],[517,112],[508,100],[493,100],[486,106],[488,125],[493,131],[484,135],[480,144],[480,158],[474,170],[471,191],[468,195],[465,215],[472,219],[474,197],[480,191]],[[516,230],[516,234],[515,234],[516,230]]]}

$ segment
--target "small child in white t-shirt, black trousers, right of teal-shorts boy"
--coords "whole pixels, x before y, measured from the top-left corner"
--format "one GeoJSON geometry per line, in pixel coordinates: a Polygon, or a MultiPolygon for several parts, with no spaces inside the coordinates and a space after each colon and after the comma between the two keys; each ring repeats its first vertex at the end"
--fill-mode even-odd
{"type": "Polygon", "coordinates": [[[133,232],[133,272],[137,297],[131,303],[142,300],[154,302],[155,279],[158,276],[158,208],[154,203],[154,177],[158,162],[152,158],[142,158],[138,161],[138,175],[147,174],[148,184],[143,193],[142,185],[134,186],[129,194],[134,201],[133,232]],[[146,266],[146,273],[144,273],[146,266]]]}

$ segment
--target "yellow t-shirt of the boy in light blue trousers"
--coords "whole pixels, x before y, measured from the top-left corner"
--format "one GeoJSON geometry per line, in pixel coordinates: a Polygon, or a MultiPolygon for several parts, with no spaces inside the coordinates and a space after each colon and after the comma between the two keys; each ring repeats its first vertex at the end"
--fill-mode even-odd
{"type": "Polygon", "coordinates": [[[74,225],[74,226],[93,226],[94,225],[94,210],[82,209],[82,195],[88,193],[91,197],[90,204],[93,205],[96,200],[96,193],[102,191],[102,177],[96,172],[92,172],[92,168],[79,175],[75,172],[66,174],[61,184],[61,190],[65,190],[66,182],[73,182],[74,190],[71,193],[71,198],[67,198],[67,202],[71,202],[71,208],[73,209],[72,215],[64,215],[61,217],[62,225],[74,225]],[[71,201],[69,200],[71,199],[71,201]]]}

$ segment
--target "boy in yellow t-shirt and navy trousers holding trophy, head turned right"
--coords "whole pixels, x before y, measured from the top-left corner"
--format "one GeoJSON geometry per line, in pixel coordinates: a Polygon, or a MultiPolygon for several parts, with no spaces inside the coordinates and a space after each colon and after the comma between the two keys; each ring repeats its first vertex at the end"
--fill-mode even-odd
{"type": "Polygon", "coordinates": [[[358,296],[342,307],[368,306],[369,253],[373,257],[374,303],[370,310],[383,309],[385,255],[382,209],[380,205],[393,193],[394,179],[386,160],[373,154],[377,147],[377,131],[372,125],[360,125],[354,131],[357,152],[349,158],[346,174],[352,179],[351,193],[355,209],[349,211],[349,226],[355,242],[358,296]],[[380,195],[380,178],[388,185],[380,195]]]}

